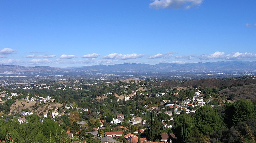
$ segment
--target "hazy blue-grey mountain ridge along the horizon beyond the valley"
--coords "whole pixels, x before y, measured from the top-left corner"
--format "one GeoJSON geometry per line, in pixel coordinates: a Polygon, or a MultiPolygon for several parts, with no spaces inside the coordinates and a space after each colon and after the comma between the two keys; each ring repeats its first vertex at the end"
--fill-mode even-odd
{"type": "Polygon", "coordinates": [[[63,71],[63,72],[256,72],[256,61],[219,61],[219,62],[198,62],[198,63],[159,63],[149,64],[114,64],[95,65],[71,68],[54,68],[49,66],[24,67],[17,65],[0,64],[0,73],[5,72],[42,72],[42,71],[63,71]]]}

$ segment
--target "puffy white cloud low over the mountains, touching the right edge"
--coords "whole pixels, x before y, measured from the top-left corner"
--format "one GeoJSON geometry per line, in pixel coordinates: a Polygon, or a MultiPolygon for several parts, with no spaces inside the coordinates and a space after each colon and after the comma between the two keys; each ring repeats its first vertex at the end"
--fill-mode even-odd
{"type": "Polygon", "coordinates": [[[226,56],[226,60],[244,60],[244,59],[256,59],[256,54],[252,54],[250,52],[240,53],[235,52],[228,54],[226,56]]]}

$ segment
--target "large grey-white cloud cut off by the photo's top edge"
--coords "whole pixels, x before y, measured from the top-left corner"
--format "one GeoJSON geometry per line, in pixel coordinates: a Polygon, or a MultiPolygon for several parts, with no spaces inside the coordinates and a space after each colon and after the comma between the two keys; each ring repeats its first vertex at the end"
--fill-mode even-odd
{"type": "Polygon", "coordinates": [[[194,6],[200,6],[203,0],[154,0],[149,4],[150,8],[185,8],[189,9],[194,6]]]}

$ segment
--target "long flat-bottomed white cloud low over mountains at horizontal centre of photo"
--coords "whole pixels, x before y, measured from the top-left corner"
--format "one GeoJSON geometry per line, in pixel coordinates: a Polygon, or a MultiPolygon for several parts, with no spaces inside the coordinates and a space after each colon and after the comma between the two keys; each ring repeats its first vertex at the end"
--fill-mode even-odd
{"type": "Polygon", "coordinates": [[[111,53],[107,56],[104,56],[103,59],[117,59],[117,60],[128,60],[128,59],[137,59],[143,57],[143,54],[118,54],[118,53],[111,53]]]}

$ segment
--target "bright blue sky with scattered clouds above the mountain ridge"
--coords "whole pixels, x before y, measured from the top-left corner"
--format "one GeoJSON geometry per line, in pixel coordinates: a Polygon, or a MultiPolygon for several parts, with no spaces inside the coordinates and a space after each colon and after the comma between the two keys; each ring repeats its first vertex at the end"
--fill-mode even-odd
{"type": "Polygon", "coordinates": [[[255,61],[255,5],[255,0],[0,0],[0,63],[255,61]]]}

